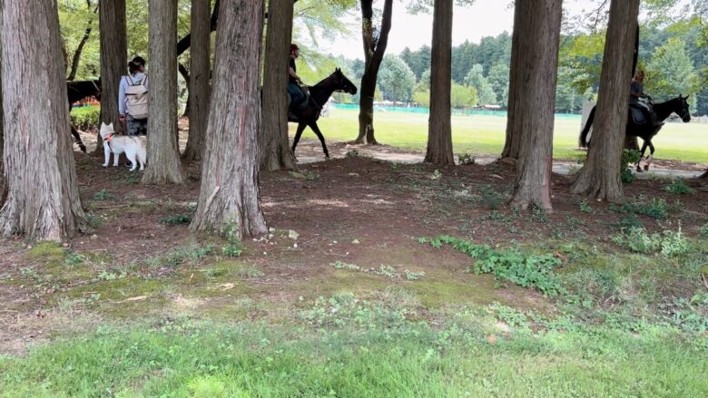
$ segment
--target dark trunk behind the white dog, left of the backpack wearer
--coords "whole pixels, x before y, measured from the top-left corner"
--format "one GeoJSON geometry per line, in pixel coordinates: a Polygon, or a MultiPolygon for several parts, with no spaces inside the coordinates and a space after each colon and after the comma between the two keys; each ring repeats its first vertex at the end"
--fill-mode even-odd
{"type": "MultiPolygon", "coordinates": [[[[118,85],[126,74],[128,44],[125,34],[125,0],[98,2],[101,34],[101,121],[113,123],[117,131],[123,126],[118,120],[118,85]]],[[[96,136],[96,153],[103,153],[101,135],[96,136]]]]}

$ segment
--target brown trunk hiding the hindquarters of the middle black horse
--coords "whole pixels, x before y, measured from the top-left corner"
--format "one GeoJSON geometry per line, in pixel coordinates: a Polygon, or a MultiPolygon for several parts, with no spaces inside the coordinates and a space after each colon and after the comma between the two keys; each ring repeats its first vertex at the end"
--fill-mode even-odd
{"type": "Polygon", "coordinates": [[[288,139],[288,63],[292,35],[292,0],[270,0],[264,59],[261,170],[294,170],[288,139]],[[283,61],[286,60],[286,61],[283,61]]]}

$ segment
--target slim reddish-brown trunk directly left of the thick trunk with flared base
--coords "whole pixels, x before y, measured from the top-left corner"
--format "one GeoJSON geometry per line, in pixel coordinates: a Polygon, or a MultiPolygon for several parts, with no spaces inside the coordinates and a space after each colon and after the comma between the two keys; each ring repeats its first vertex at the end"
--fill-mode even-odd
{"type": "Polygon", "coordinates": [[[204,152],[204,135],[209,115],[209,61],[211,45],[209,44],[210,19],[209,0],[192,0],[192,50],[190,51],[189,99],[190,135],[184,159],[202,160],[204,152]]]}

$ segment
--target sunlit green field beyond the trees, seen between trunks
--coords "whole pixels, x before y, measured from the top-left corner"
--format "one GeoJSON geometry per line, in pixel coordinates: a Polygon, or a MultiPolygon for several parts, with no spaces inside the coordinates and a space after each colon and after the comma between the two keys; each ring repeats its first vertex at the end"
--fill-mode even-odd
{"type": "MultiPolygon", "coordinates": [[[[318,121],[325,138],[351,141],[359,129],[358,112],[332,110],[318,121]]],[[[294,127],[294,126],[293,126],[294,127]]],[[[425,150],[428,142],[428,115],[404,112],[377,112],[376,138],[380,143],[412,150],[425,150]]],[[[292,127],[291,127],[292,129],[292,127]]],[[[506,118],[500,116],[453,116],[452,140],[455,153],[498,155],[504,147],[506,118]]],[[[577,148],[580,119],[556,119],[553,155],[573,159],[577,148]]],[[[307,129],[305,137],[314,137],[307,129]]],[[[641,143],[641,141],[640,141],[641,143]]],[[[708,163],[708,124],[667,123],[654,138],[655,157],[667,160],[708,163]]]]}

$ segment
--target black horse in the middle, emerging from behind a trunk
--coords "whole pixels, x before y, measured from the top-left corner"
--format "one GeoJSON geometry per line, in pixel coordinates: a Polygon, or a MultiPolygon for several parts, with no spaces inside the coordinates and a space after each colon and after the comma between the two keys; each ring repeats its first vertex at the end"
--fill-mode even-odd
{"type": "Polygon", "coordinates": [[[317,127],[317,120],[320,119],[322,105],[329,100],[329,96],[332,95],[332,92],[349,92],[349,94],[356,94],[357,87],[349,82],[347,76],[341,73],[339,68],[337,68],[334,73],[330,74],[320,83],[308,86],[308,90],[310,91],[310,96],[307,102],[304,102],[298,109],[292,110],[292,112],[288,114],[288,121],[298,123],[298,131],[295,133],[295,140],[292,141],[292,152],[295,153],[295,147],[298,146],[302,131],[305,130],[305,127],[310,126],[310,129],[317,134],[317,138],[319,138],[322,143],[322,150],[325,152],[325,157],[329,159],[327,144],[324,142],[324,136],[322,136],[320,128],[317,127]]]}

